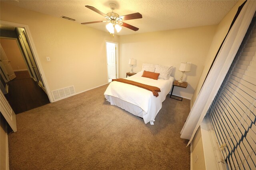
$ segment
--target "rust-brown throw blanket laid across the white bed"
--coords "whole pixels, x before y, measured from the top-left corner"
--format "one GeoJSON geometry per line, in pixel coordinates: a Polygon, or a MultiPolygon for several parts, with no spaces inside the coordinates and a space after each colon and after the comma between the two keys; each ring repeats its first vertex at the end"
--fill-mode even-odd
{"type": "Polygon", "coordinates": [[[146,84],[134,82],[132,80],[126,80],[124,78],[112,79],[112,82],[113,81],[122,82],[122,83],[126,83],[126,84],[131,84],[131,85],[134,85],[134,86],[137,86],[137,87],[140,87],[140,88],[144,88],[146,90],[152,91],[153,95],[156,96],[156,97],[158,96],[158,92],[161,92],[160,88],[158,88],[158,87],[149,86],[149,85],[146,85],[146,84]]]}

